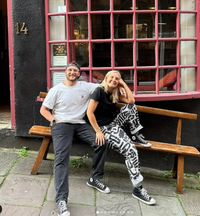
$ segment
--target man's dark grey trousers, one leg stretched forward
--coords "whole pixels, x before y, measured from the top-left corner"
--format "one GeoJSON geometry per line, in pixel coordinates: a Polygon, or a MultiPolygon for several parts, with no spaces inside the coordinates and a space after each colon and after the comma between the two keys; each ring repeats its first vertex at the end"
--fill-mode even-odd
{"type": "Polygon", "coordinates": [[[107,154],[107,144],[104,146],[98,146],[95,143],[96,133],[89,124],[58,123],[51,128],[51,134],[55,153],[55,201],[67,201],[69,194],[69,157],[73,137],[75,136],[77,139],[94,148],[93,164],[90,173],[91,177],[93,178],[103,177],[105,157],[107,154]]]}

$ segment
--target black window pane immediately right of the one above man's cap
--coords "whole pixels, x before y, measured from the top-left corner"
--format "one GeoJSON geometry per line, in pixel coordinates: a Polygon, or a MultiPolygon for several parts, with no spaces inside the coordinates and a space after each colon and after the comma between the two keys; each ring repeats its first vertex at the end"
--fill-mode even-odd
{"type": "Polygon", "coordinates": [[[110,43],[92,43],[93,67],[111,67],[110,43]]]}

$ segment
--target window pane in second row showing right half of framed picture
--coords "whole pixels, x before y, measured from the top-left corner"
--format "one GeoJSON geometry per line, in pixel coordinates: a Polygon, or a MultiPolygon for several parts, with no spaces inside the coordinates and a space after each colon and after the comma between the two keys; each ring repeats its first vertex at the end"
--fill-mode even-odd
{"type": "Polygon", "coordinates": [[[136,15],[136,37],[152,38],[155,36],[155,14],[136,15]]]}

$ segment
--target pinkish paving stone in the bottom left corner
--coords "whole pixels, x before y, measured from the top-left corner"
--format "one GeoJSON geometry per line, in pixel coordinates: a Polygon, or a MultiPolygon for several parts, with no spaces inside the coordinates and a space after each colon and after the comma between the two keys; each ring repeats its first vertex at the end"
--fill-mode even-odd
{"type": "Polygon", "coordinates": [[[2,216],[40,216],[40,209],[34,207],[2,205],[2,216]]]}

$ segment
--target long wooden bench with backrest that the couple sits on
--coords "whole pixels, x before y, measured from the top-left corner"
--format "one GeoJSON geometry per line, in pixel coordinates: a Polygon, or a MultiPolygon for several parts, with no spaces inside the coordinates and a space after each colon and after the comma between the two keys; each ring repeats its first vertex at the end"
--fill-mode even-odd
{"type": "MultiPolygon", "coordinates": [[[[41,92],[40,96],[38,97],[38,100],[42,101],[45,98],[46,94],[47,93],[41,92]]],[[[120,108],[123,105],[124,104],[122,103],[118,103],[117,107],[120,108]]],[[[138,149],[143,149],[146,151],[158,151],[158,152],[166,152],[166,153],[174,154],[175,158],[174,158],[174,167],[173,167],[173,178],[177,179],[177,192],[182,193],[183,192],[183,177],[184,177],[183,176],[184,175],[184,156],[185,155],[196,156],[196,157],[200,156],[200,152],[195,147],[181,145],[182,120],[183,119],[196,120],[197,115],[191,114],[191,113],[185,113],[185,112],[177,112],[177,111],[171,111],[171,110],[165,110],[165,109],[138,106],[138,105],[137,105],[137,109],[139,112],[145,112],[145,113],[150,113],[150,114],[178,118],[175,143],[163,143],[163,142],[149,141],[150,143],[152,143],[151,148],[145,148],[139,144],[135,144],[135,146],[138,149]]],[[[30,128],[29,134],[44,137],[41,147],[39,149],[36,161],[31,171],[32,175],[36,175],[38,172],[40,163],[42,162],[43,159],[46,159],[46,156],[48,153],[48,149],[49,149],[49,145],[51,141],[51,129],[48,126],[34,125],[30,128]]]]}

